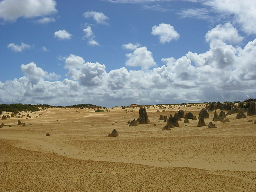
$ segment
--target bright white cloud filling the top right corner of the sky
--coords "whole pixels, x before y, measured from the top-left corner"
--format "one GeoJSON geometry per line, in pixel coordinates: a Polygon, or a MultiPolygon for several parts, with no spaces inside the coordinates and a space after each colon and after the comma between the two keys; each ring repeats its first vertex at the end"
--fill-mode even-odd
{"type": "Polygon", "coordinates": [[[203,4],[218,13],[234,15],[234,22],[240,25],[244,32],[256,34],[255,0],[207,0],[203,4]]]}

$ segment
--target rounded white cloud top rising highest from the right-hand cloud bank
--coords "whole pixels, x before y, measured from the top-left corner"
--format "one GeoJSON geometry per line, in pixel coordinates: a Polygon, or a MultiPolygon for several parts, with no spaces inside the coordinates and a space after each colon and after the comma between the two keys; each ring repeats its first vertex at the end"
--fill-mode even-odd
{"type": "Polygon", "coordinates": [[[218,24],[215,28],[206,33],[206,41],[212,42],[215,39],[230,43],[240,43],[243,37],[239,36],[238,30],[230,23],[218,24]]]}

